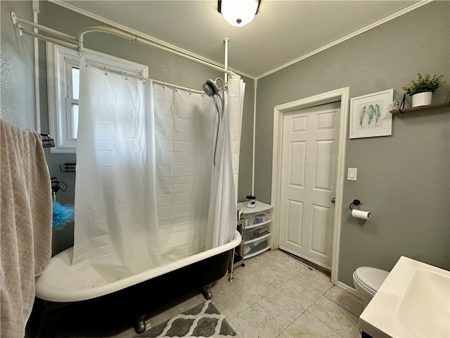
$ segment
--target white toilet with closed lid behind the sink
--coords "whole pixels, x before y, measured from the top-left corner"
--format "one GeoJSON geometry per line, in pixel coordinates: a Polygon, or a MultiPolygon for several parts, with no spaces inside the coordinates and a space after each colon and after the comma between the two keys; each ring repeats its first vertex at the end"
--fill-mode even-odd
{"type": "Polygon", "coordinates": [[[353,284],[361,299],[364,300],[364,306],[367,306],[372,297],[385,281],[389,273],[385,270],[361,266],[353,273],[353,284]]]}

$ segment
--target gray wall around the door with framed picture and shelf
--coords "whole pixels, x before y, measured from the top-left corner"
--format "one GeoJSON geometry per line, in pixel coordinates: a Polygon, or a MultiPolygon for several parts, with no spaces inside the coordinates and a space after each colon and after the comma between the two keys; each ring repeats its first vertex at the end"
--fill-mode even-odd
{"type": "MultiPolygon", "coordinates": [[[[271,202],[273,109],[350,87],[350,97],[385,89],[403,95],[417,73],[444,74],[450,89],[449,1],[435,1],[258,80],[255,195],[271,202]]],[[[450,109],[394,115],[392,136],[348,139],[339,280],[352,286],[361,265],[390,270],[399,256],[450,269],[450,109]],[[354,199],[371,220],[349,217],[354,199]]]]}

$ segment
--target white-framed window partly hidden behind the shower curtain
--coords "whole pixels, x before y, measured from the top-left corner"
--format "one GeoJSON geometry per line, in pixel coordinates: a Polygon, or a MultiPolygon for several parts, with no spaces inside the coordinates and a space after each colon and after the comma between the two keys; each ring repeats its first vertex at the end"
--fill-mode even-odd
{"type": "MultiPolygon", "coordinates": [[[[47,91],[52,153],[75,154],[78,133],[79,56],[76,51],[46,43],[47,91]]],[[[148,77],[148,67],[139,63],[85,49],[85,56],[98,65],[148,77]]]]}

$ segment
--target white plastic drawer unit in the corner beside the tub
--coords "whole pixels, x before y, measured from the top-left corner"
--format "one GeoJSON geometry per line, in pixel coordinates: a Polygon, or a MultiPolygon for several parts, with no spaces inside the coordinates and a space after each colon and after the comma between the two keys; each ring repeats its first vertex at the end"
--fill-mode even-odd
{"type": "Polygon", "coordinates": [[[242,208],[243,220],[238,220],[238,229],[243,237],[240,254],[244,259],[270,249],[272,232],[272,206],[256,201],[255,208],[247,208],[247,202],[238,203],[242,208]]]}

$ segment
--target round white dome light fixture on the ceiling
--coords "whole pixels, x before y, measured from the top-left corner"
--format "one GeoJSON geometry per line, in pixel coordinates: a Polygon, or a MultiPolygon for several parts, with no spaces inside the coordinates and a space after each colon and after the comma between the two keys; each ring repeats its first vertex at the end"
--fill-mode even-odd
{"type": "Polygon", "coordinates": [[[243,27],[258,13],[261,0],[219,0],[219,13],[230,25],[243,27]]]}

